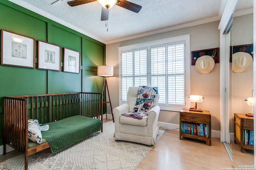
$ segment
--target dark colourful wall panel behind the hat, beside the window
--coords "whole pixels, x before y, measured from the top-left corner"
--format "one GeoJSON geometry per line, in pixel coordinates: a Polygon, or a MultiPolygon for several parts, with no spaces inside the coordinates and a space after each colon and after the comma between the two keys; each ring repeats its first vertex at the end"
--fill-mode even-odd
{"type": "Polygon", "coordinates": [[[219,48],[212,48],[212,49],[191,51],[191,65],[195,65],[196,60],[203,55],[209,55],[214,59],[214,63],[219,63],[219,48]]]}

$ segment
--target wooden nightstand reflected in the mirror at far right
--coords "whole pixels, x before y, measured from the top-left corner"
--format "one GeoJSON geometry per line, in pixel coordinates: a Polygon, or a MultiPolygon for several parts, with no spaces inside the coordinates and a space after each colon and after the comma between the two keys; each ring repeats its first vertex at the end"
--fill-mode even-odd
{"type": "Polygon", "coordinates": [[[240,145],[241,152],[244,152],[244,149],[254,150],[254,145],[250,145],[251,131],[253,131],[253,117],[248,117],[241,113],[234,113],[234,143],[240,145]],[[244,143],[246,141],[245,130],[248,134],[247,145],[244,143]]]}

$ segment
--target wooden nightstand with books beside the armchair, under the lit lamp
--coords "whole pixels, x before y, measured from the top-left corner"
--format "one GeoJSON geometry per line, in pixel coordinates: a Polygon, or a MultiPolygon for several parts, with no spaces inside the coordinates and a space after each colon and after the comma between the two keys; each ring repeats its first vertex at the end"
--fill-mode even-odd
{"type": "Polygon", "coordinates": [[[206,141],[209,146],[212,145],[212,135],[211,135],[211,114],[210,111],[203,110],[202,112],[198,111],[189,111],[189,109],[180,110],[180,140],[181,137],[189,137],[193,139],[198,139],[206,141]],[[185,126],[185,127],[184,127],[185,126]],[[202,136],[202,132],[199,134],[198,126],[202,126],[205,131],[202,136]],[[186,131],[186,127],[190,127],[186,131]],[[196,131],[191,127],[196,127],[196,131]]]}

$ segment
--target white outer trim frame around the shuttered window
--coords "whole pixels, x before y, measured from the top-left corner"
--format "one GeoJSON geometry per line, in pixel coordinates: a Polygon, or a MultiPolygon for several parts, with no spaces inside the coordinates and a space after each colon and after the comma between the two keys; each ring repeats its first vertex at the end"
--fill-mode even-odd
{"type": "MultiPolygon", "coordinates": [[[[118,47],[118,57],[119,57],[119,105],[125,104],[126,101],[122,101],[122,51],[128,51],[132,49],[141,49],[147,48],[148,55],[150,55],[150,46],[161,45],[161,44],[168,44],[174,43],[178,41],[185,41],[185,104],[181,107],[169,107],[169,106],[160,106],[161,110],[168,110],[168,111],[180,111],[182,108],[186,108],[186,105],[189,104],[189,95],[190,95],[190,35],[181,35],[177,37],[170,37],[166,39],[160,39],[156,41],[149,41],[146,43],[139,43],[134,45],[128,45],[124,47],[118,47]]],[[[149,64],[149,63],[148,63],[149,64]]],[[[151,69],[148,66],[148,69],[151,69]]],[[[151,74],[150,70],[148,70],[148,74],[151,74]]]]}

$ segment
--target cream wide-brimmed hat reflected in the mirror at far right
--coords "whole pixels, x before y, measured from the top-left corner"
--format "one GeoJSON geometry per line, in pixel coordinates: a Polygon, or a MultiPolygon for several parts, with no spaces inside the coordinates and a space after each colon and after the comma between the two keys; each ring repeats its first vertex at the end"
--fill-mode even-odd
{"type": "Polygon", "coordinates": [[[232,56],[232,68],[234,72],[244,72],[252,66],[252,56],[249,53],[237,52],[232,56]]]}

